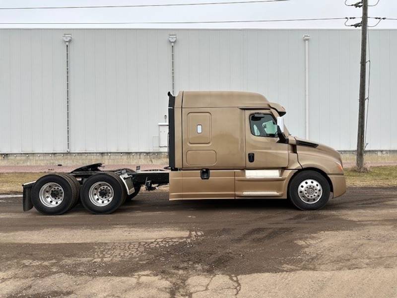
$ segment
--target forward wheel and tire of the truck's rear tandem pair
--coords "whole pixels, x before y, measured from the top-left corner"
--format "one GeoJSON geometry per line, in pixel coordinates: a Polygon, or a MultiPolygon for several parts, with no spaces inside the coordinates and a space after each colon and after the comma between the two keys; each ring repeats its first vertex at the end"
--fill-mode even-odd
{"type": "Polygon", "coordinates": [[[126,198],[124,183],[113,172],[95,174],[81,186],[81,204],[93,214],[110,214],[118,209],[126,198]]]}

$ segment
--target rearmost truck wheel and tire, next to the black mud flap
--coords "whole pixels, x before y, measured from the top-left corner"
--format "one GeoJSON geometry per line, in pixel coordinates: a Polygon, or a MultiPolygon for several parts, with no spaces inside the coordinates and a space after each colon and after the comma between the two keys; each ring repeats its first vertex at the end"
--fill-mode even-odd
{"type": "Polygon", "coordinates": [[[46,215],[61,215],[69,211],[75,198],[76,187],[63,174],[48,174],[39,178],[31,191],[33,206],[46,215]]]}

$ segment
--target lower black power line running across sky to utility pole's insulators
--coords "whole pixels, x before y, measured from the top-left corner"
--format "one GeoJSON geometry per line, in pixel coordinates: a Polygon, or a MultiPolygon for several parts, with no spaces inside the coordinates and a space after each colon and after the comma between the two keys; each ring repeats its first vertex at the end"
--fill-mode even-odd
{"type": "Polygon", "coordinates": [[[213,24],[213,23],[260,23],[260,22],[296,22],[296,21],[320,21],[320,20],[343,20],[346,17],[328,18],[301,18],[301,19],[274,19],[274,20],[232,20],[232,21],[180,21],[180,22],[0,22],[5,25],[121,25],[121,24],[213,24]]]}

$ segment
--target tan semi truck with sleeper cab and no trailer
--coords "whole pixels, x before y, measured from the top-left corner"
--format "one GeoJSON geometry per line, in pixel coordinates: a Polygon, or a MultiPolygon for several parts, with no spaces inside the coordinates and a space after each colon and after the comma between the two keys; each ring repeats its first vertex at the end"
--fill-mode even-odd
{"type": "Polygon", "coordinates": [[[170,200],[289,199],[301,210],[324,207],[346,191],[340,154],[293,137],[285,109],[258,93],[181,91],[169,96],[169,166],[119,169],[101,164],[48,174],[23,185],[23,208],[58,215],[79,201],[92,213],[112,213],[147,190],[170,186],[170,200]]]}

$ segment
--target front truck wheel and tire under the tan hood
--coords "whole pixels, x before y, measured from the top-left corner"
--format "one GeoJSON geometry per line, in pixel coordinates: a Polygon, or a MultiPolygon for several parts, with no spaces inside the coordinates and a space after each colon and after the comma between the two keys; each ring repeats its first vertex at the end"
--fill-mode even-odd
{"type": "Polygon", "coordinates": [[[288,198],[300,210],[318,210],[330,199],[330,184],[316,171],[302,171],[296,174],[288,187],[288,198]]]}

